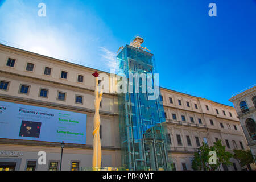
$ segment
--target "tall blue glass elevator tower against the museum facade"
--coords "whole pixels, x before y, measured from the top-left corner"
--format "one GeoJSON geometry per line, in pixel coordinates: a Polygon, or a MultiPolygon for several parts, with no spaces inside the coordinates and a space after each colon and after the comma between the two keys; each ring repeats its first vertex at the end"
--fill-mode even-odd
{"type": "Polygon", "coordinates": [[[142,42],[137,36],[130,45],[122,47],[117,56],[117,75],[127,78],[126,85],[121,84],[121,88],[127,87],[127,92],[119,93],[118,98],[122,165],[129,170],[170,170],[162,101],[159,97],[150,100],[148,92],[142,93],[142,79],[139,93],[129,93],[131,73],[152,74],[154,89],[154,55],[141,47],[142,42]]]}

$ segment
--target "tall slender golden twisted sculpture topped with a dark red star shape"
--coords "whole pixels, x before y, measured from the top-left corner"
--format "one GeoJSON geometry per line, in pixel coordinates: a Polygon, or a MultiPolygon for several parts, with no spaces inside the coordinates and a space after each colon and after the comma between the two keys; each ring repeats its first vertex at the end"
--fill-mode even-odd
{"type": "Polygon", "coordinates": [[[93,159],[92,159],[92,167],[93,171],[96,171],[100,169],[101,167],[101,138],[100,138],[100,126],[101,126],[101,119],[100,119],[100,103],[102,99],[103,91],[101,90],[100,93],[98,93],[98,73],[94,72],[92,74],[95,77],[96,80],[96,87],[94,90],[94,107],[95,107],[95,113],[93,118],[93,159]]]}

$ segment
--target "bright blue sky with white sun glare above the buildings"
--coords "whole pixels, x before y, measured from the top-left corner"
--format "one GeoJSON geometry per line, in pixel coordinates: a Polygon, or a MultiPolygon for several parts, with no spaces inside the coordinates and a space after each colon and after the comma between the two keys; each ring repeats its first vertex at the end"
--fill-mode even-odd
{"type": "Polygon", "coordinates": [[[232,94],[256,81],[255,0],[0,0],[0,27],[0,40],[105,69],[142,35],[160,86],[230,106],[232,94]],[[46,17],[38,16],[40,2],[46,17]],[[212,2],[217,17],[208,15],[212,2]]]}

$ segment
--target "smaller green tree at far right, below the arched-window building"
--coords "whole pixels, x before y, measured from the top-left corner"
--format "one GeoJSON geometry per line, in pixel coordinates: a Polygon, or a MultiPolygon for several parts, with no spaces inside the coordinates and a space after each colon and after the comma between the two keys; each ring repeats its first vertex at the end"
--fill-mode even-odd
{"type": "Polygon", "coordinates": [[[249,169],[250,164],[254,164],[256,156],[251,153],[251,150],[233,150],[234,159],[237,159],[241,166],[247,166],[249,169]]]}

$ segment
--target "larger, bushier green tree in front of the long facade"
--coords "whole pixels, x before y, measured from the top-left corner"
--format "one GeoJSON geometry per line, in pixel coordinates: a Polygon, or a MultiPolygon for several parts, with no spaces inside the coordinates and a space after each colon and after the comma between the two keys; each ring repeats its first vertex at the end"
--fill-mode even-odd
{"type": "Polygon", "coordinates": [[[212,147],[203,142],[198,152],[194,153],[194,159],[192,161],[193,170],[216,170],[221,164],[230,166],[232,163],[229,161],[233,154],[225,150],[226,146],[222,146],[221,140],[213,143],[212,147]],[[209,164],[210,151],[215,151],[217,155],[216,164],[209,164]],[[200,154],[199,154],[200,152],[200,154]]]}

